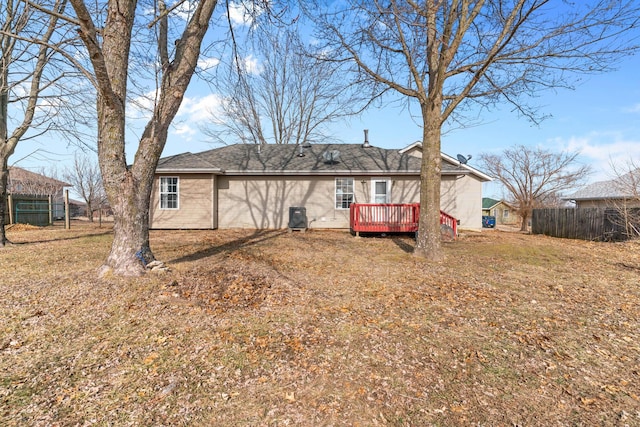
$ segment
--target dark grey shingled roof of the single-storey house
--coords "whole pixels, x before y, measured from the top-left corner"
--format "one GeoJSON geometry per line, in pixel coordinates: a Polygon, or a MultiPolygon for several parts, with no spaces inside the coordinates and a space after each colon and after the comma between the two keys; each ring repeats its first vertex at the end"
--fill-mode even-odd
{"type": "MultiPolygon", "coordinates": [[[[299,145],[235,144],[201,153],[184,153],[160,159],[158,172],[219,172],[237,175],[336,173],[407,174],[420,173],[421,159],[399,150],[361,144],[299,145]],[[300,156],[300,153],[304,156],[300,156]],[[327,161],[325,153],[338,153],[337,160],[327,161]]],[[[448,162],[442,163],[443,175],[468,174],[469,170],[448,162]]]]}

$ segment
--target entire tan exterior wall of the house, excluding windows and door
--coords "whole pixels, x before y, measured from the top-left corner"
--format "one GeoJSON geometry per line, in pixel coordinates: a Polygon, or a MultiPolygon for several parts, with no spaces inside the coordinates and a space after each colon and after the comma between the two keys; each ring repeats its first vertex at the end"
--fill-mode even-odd
{"type": "MultiPolygon", "coordinates": [[[[344,176],[351,178],[350,176],[344,176]]],[[[335,178],[293,176],[156,175],[151,197],[151,228],[282,229],[289,207],[306,208],[309,228],[349,228],[349,209],[335,208],[335,178]],[[160,209],[160,176],[178,176],[178,209],[160,209]]],[[[341,177],[338,177],[341,178],[341,177]]],[[[387,180],[390,203],[418,203],[418,176],[353,176],[356,203],[372,203],[372,181],[387,180]]],[[[460,228],[482,228],[482,183],[470,176],[443,177],[441,209],[460,220],[460,228]]]]}

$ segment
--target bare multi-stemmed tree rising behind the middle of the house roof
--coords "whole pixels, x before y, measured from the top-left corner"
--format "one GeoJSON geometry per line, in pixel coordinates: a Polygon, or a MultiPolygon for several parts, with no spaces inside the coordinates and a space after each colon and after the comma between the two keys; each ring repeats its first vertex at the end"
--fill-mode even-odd
{"type": "MultiPolygon", "coordinates": [[[[301,144],[325,139],[326,125],[352,115],[358,102],[340,64],[307,54],[292,26],[261,22],[218,73],[222,116],[205,133],[217,142],[301,144]],[[241,57],[242,56],[242,57],[241,57]]],[[[219,66],[220,67],[220,66],[219,66]]]]}

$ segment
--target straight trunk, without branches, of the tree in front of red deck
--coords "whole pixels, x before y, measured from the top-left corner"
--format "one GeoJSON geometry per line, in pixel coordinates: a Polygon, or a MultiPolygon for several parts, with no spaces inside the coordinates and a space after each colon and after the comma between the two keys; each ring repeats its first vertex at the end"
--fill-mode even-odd
{"type": "Polygon", "coordinates": [[[414,255],[431,261],[444,259],[440,236],[440,106],[422,106],[422,166],[420,170],[420,221],[414,255]]]}

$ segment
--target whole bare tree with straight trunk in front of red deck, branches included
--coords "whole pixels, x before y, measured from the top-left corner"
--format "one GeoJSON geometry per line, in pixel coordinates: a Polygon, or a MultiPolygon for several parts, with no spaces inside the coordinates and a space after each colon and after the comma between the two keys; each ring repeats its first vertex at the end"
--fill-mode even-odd
{"type": "Polygon", "coordinates": [[[420,225],[414,254],[444,257],[440,243],[441,135],[464,113],[508,103],[540,119],[528,97],[612,69],[636,49],[634,0],[345,0],[301,2],[326,58],[351,65],[379,92],[419,107],[420,225]]]}

